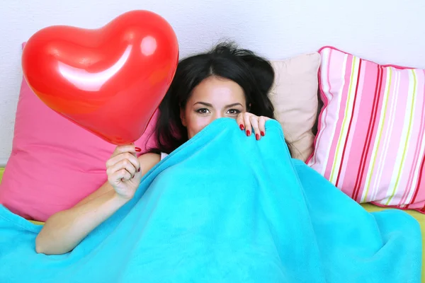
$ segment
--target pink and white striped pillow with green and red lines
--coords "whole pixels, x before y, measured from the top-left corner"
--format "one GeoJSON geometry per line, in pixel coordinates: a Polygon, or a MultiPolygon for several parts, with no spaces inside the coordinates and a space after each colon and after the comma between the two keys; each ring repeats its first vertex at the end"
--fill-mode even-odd
{"type": "Polygon", "coordinates": [[[425,70],[324,47],[307,164],[357,202],[425,213],[425,70]]]}

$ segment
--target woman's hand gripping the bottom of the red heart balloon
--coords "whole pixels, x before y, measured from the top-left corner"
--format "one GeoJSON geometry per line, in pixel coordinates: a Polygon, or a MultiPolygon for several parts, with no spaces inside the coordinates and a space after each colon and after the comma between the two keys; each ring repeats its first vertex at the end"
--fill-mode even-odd
{"type": "Polygon", "coordinates": [[[136,156],[136,152],[140,151],[134,144],[117,146],[106,162],[108,182],[117,195],[125,200],[132,199],[142,179],[140,162],[136,156]]]}

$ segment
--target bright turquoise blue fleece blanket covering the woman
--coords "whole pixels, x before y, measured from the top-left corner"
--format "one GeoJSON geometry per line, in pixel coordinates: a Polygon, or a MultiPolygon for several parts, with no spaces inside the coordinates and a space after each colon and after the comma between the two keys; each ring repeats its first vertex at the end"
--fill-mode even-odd
{"type": "Polygon", "coordinates": [[[212,122],[65,255],[1,207],[0,282],[419,282],[419,224],[365,212],[283,141],[275,120],[260,141],[212,122]]]}

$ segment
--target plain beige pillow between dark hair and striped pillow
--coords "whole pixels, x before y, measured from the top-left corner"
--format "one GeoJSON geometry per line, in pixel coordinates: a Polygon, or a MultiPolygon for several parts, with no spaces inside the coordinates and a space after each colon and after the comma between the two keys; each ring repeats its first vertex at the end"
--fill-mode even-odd
{"type": "Polygon", "coordinates": [[[276,77],[269,96],[276,120],[293,145],[293,157],[306,161],[313,152],[320,55],[317,52],[302,54],[271,64],[276,77]]]}

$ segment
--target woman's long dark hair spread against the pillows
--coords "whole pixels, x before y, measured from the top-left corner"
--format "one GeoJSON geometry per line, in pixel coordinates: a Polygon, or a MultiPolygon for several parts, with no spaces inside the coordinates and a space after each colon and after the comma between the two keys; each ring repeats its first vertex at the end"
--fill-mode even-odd
{"type": "Polygon", "coordinates": [[[268,98],[275,76],[270,62],[233,43],[221,43],[209,52],[179,62],[171,86],[159,105],[154,132],[159,144],[152,151],[169,154],[188,140],[180,110],[185,108],[193,88],[209,76],[220,76],[239,84],[244,90],[246,106],[251,105],[249,112],[274,119],[273,104],[268,98]]]}

